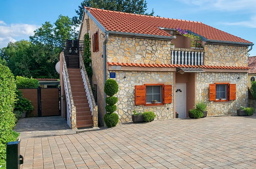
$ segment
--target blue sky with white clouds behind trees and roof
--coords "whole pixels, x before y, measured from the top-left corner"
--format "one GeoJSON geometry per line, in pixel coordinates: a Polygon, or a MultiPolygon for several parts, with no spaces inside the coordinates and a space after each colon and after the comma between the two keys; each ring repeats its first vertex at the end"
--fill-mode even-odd
{"type": "MultiPolygon", "coordinates": [[[[28,39],[45,21],[72,17],[82,0],[1,0],[0,48],[28,39]]],[[[162,17],[195,20],[256,43],[255,0],[148,0],[149,12],[162,17]]],[[[256,55],[256,45],[250,56],[256,55]]]]}

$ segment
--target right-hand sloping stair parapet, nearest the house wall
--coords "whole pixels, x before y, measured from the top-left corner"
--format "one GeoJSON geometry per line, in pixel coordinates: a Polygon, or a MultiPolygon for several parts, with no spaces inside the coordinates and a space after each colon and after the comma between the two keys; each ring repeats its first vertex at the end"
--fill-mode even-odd
{"type": "Polygon", "coordinates": [[[98,125],[98,106],[96,105],[94,97],[93,97],[90,80],[86,73],[82,52],[79,52],[79,58],[80,58],[80,68],[81,68],[81,74],[82,74],[84,87],[85,87],[85,91],[86,91],[86,96],[88,99],[89,107],[91,110],[91,115],[93,118],[93,126],[97,126],[98,125]]]}

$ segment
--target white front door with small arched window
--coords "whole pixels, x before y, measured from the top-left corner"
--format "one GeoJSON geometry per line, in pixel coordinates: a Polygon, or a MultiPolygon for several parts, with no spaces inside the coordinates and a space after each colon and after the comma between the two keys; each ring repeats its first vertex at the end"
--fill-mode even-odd
{"type": "Polygon", "coordinates": [[[177,83],[175,88],[175,111],[180,117],[187,117],[186,114],[186,83],[177,83]]]}

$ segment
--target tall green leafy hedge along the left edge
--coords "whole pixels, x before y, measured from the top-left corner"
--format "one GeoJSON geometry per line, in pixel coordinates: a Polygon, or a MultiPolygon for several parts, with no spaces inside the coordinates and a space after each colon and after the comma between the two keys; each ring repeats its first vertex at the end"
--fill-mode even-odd
{"type": "MultiPolygon", "coordinates": [[[[16,118],[13,114],[16,85],[8,67],[0,64],[0,166],[6,166],[6,143],[16,141],[18,133],[12,129],[16,118]]],[[[1,167],[0,167],[1,168],[1,167]]]]}

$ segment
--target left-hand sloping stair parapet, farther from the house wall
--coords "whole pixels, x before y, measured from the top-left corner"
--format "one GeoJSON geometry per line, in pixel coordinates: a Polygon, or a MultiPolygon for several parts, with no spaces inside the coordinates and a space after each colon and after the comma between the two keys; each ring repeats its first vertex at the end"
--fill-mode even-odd
{"type": "Polygon", "coordinates": [[[62,73],[63,73],[64,90],[66,94],[67,111],[68,111],[67,123],[71,129],[74,129],[76,128],[76,107],[74,106],[74,100],[72,96],[71,85],[70,85],[69,76],[68,76],[68,68],[66,65],[64,52],[62,52],[61,55],[63,60],[62,73]]]}

